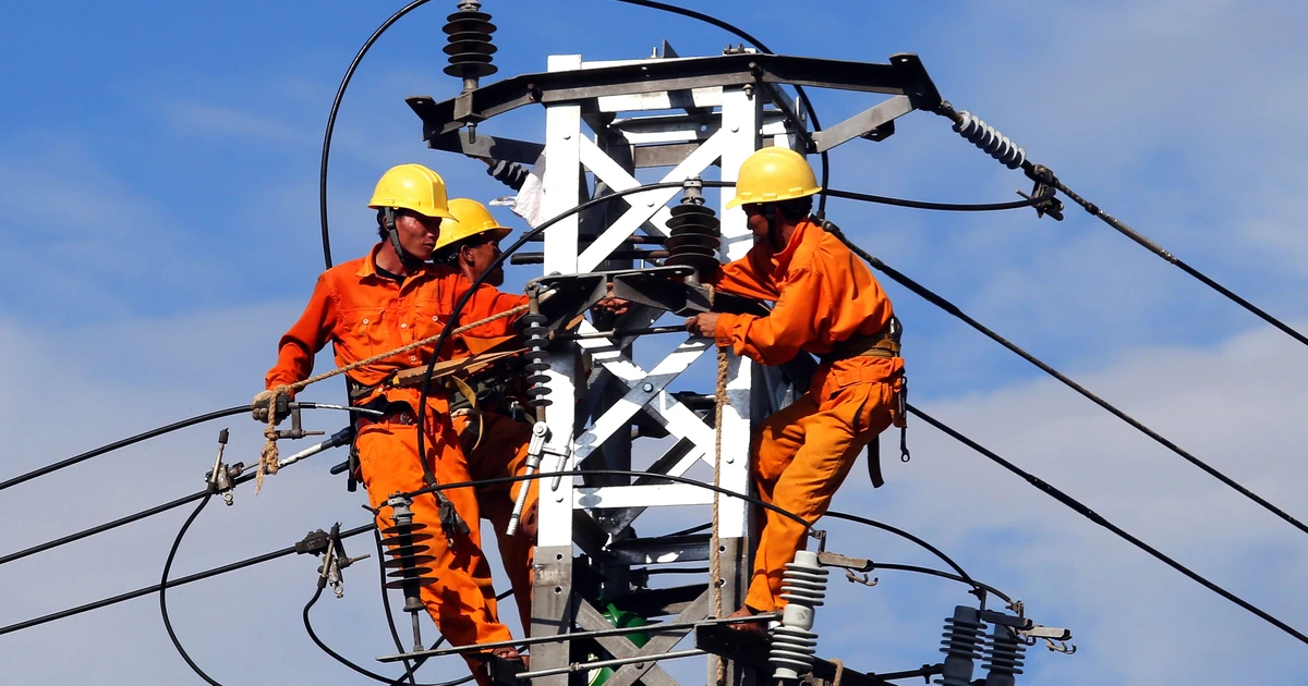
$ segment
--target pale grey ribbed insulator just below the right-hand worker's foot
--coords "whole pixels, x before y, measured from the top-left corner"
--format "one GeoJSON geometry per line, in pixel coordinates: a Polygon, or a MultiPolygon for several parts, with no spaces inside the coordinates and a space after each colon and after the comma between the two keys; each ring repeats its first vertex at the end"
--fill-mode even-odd
{"type": "Polygon", "coordinates": [[[818,652],[818,634],[814,627],[814,608],[827,597],[827,570],[818,563],[818,553],[799,550],[795,561],[786,563],[781,580],[781,597],[786,608],[781,625],[772,630],[772,649],[768,661],[776,668],[773,678],[798,681],[800,673],[812,669],[818,652]]]}

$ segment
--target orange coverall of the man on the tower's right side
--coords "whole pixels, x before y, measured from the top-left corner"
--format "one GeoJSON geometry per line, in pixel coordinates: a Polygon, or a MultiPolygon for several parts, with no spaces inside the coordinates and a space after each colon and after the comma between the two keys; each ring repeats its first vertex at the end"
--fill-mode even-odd
{"type": "MultiPolygon", "coordinates": [[[[757,244],[722,265],[717,286],[776,301],[768,316],[722,314],[715,338],[760,365],[781,365],[807,350],[821,355],[853,336],[880,332],[891,302],[871,272],[836,237],[800,222],[781,252],[757,244]]],[[[768,417],[753,439],[759,497],[816,521],[827,512],[859,451],[891,425],[904,361],[849,357],[824,362],[790,406],[768,417]]],[[[782,572],[804,544],[804,528],[765,511],[746,605],[772,612],[781,600],[782,572]]]]}

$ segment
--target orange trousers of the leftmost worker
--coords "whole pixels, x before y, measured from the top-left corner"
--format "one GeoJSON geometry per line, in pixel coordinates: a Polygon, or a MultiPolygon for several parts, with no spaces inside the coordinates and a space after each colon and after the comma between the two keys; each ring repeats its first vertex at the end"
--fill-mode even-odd
{"type": "MultiPolygon", "coordinates": [[[[422,465],[417,460],[417,433],[412,425],[366,425],[360,429],[354,440],[358,446],[360,473],[373,508],[382,507],[395,493],[415,491],[425,486],[422,465]]],[[[467,461],[447,422],[437,421],[425,443],[428,464],[438,483],[471,481],[467,461]]],[[[472,489],[450,489],[442,493],[454,503],[459,516],[470,524],[476,523],[477,503],[472,489]]],[[[437,583],[424,585],[421,598],[441,634],[453,645],[511,639],[509,627],[500,622],[493,592],[487,598],[479,583],[481,578],[489,579],[490,566],[481,553],[476,528],[468,534],[456,534],[451,546],[441,529],[439,504],[434,494],[419,495],[409,507],[413,521],[426,524],[422,533],[432,534],[432,538],[422,541],[422,545],[430,547],[422,554],[436,558],[424,566],[433,570],[437,583]]],[[[392,524],[391,510],[382,507],[377,525],[385,529],[392,524]]],[[[481,662],[471,656],[467,661],[477,682],[489,685],[485,669],[480,669],[481,662]]]]}

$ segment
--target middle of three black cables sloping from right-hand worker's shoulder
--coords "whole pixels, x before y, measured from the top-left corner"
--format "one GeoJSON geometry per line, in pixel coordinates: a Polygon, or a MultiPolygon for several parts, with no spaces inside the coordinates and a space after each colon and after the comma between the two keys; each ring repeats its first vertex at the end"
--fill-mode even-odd
{"type": "Polygon", "coordinates": [[[1181,448],[1176,443],[1172,443],[1167,438],[1163,438],[1163,435],[1160,435],[1159,433],[1156,433],[1152,429],[1144,426],[1143,423],[1138,422],[1131,416],[1126,414],[1125,412],[1117,409],[1114,405],[1110,405],[1104,399],[1101,399],[1101,397],[1096,396],[1095,393],[1090,392],[1090,389],[1087,389],[1086,387],[1080,385],[1079,383],[1071,380],[1069,376],[1063,375],[1058,370],[1050,367],[1049,365],[1046,365],[1045,362],[1042,362],[1040,358],[1032,355],[1031,353],[1023,350],[1022,348],[1018,348],[1016,345],[1014,345],[1012,342],[1010,342],[1003,336],[999,336],[998,333],[995,333],[994,331],[991,331],[986,325],[984,325],[980,321],[977,321],[976,319],[972,319],[971,316],[968,316],[956,304],[946,301],[939,294],[931,291],[926,286],[922,286],[917,281],[913,281],[912,278],[909,278],[909,277],[904,276],[903,273],[895,270],[893,268],[891,268],[889,265],[887,265],[882,260],[879,260],[875,256],[867,253],[867,251],[859,248],[852,240],[849,240],[849,238],[846,238],[845,234],[841,233],[840,227],[837,227],[836,225],[833,225],[831,222],[823,222],[823,227],[827,229],[828,231],[831,231],[836,238],[840,238],[840,240],[842,243],[845,243],[845,246],[848,246],[849,250],[852,250],[859,257],[867,260],[867,263],[871,264],[876,270],[879,270],[879,272],[884,273],[886,276],[891,277],[892,280],[895,280],[896,282],[899,282],[901,286],[912,290],[913,293],[916,293],[921,298],[926,299],[931,304],[934,304],[934,306],[939,307],[940,310],[944,310],[946,312],[948,312],[948,314],[954,315],[955,318],[960,319],[961,321],[964,321],[965,324],[968,324],[973,329],[976,329],[976,331],[981,332],[982,335],[985,335],[991,341],[994,341],[994,342],[997,342],[997,344],[1007,348],[1008,350],[1011,350],[1012,353],[1015,353],[1022,359],[1025,359],[1027,362],[1035,365],[1037,368],[1040,368],[1045,374],[1053,376],[1054,379],[1058,379],[1067,388],[1071,388],[1073,391],[1080,393],[1083,397],[1086,397],[1091,402],[1099,405],[1100,408],[1103,408],[1104,410],[1107,410],[1113,417],[1117,417],[1118,419],[1126,422],[1127,425],[1130,425],[1131,427],[1134,427],[1137,431],[1139,431],[1139,433],[1144,434],[1146,436],[1154,439],[1155,442],[1158,442],[1164,448],[1175,452],[1176,455],[1180,455],[1182,459],[1185,459],[1185,461],[1193,464],[1194,466],[1198,466],[1206,474],[1209,474],[1210,477],[1213,477],[1213,478],[1220,481],[1222,483],[1230,486],[1232,490],[1235,490],[1240,495],[1244,495],[1245,498],[1253,500],[1254,503],[1258,503],[1260,506],[1262,506],[1264,510],[1266,510],[1266,511],[1277,515],[1278,517],[1286,520],[1287,523],[1290,523],[1291,525],[1294,525],[1300,532],[1308,533],[1308,527],[1305,527],[1303,523],[1300,523],[1298,519],[1295,519],[1294,516],[1291,516],[1284,510],[1281,510],[1279,507],[1271,504],[1270,502],[1267,502],[1266,499],[1264,499],[1258,494],[1256,494],[1256,493],[1250,491],[1249,489],[1241,486],[1239,482],[1236,482],[1231,477],[1223,474],[1222,472],[1216,470],[1215,468],[1213,468],[1211,465],[1209,465],[1203,460],[1199,460],[1194,455],[1190,455],[1188,451],[1185,451],[1184,448],[1181,448]]]}

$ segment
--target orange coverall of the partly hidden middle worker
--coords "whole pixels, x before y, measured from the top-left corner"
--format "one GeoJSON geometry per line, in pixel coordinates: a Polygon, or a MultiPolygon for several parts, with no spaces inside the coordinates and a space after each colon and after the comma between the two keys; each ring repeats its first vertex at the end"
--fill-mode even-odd
{"type": "MultiPolygon", "coordinates": [[[[441,319],[449,320],[454,304],[467,293],[471,281],[462,273],[445,267],[438,267],[437,273],[437,280],[441,284],[438,298],[441,319]]],[[[459,321],[477,321],[526,302],[526,295],[501,293],[493,286],[483,285],[463,307],[459,321]]],[[[514,333],[514,321],[521,316],[490,321],[459,335],[454,342],[453,355],[471,354],[477,348],[475,341],[470,341],[471,338],[497,338],[514,333]]],[[[463,455],[467,457],[468,473],[476,481],[521,474],[527,461],[527,447],[531,443],[531,425],[515,422],[497,412],[483,410],[480,414],[480,442],[477,440],[475,417],[471,413],[453,417],[454,431],[458,434],[463,455]],[[470,426],[472,426],[471,430],[470,426]]],[[[481,516],[490,520],[490,525],[494,528],[496,540],[500,544],[500,558],[518,605],[518,618],[522,621],[522,626],[527,627],[531,622],[531,561],[535,545],[521,528],[513,536],[505,536],[505,528],[513,515],[513,504],[523,486],[528,487],[526,507],[523,507],[523,514],[527,514],[531,512],[539,490],[535,481],[477,487],[476,500],[481,516]]],[[[468,527],[480,533],[480,521],[468,521],[468,527]]],[[[493,598],[494,592],[489,574],[485,578],[479,578],[477,581],[493,598]]]]}

